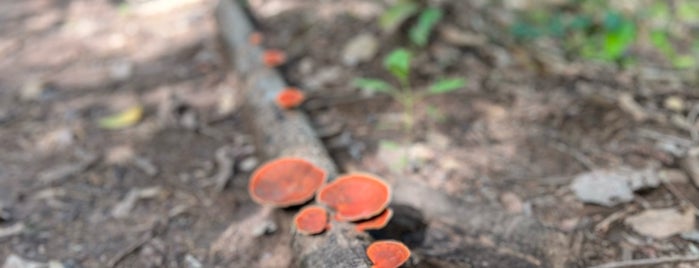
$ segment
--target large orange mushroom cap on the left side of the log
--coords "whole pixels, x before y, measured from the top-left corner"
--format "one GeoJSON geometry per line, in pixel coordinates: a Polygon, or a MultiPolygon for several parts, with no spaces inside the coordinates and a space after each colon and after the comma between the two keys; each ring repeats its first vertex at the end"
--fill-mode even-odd
{"type": "Polygon", "coordinates": [[[276,207],[300,205],[313,198],[325,177],[323,169],[304,159],[278,158],[255,170],[248,191],[259,204],[276,207]]]}

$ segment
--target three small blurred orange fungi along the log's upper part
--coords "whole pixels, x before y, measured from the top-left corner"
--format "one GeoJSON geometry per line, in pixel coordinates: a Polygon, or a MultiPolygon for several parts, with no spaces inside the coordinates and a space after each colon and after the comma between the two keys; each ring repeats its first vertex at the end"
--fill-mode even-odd
{"type": "MultiPolygon", "coordinates": [[[[249,36],[251,45],[260,45],[263,36],[260,32],[252,32],[249,36]]],[[[270,68],[278,67],[286,63],[286,53],[281,50],[267,49],[262,53],[262,63],[270,68]]],[[[276,98],[277,107],[289,110],[298,107],[306,99],[303,91],[298,88],[287,87],[282,89],[276,98]]]]}

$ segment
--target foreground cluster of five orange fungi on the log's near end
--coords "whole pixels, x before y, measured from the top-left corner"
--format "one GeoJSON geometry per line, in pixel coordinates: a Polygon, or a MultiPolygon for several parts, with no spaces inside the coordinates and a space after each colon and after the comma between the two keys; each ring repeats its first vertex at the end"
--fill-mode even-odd
{"type": "MultiPolygon", "coordinates": [[[[258,204],[281,208],[307,203],[317,193],[320,205],[306,206],[294,217],[297,232],[304,235],[329,230],[331,220],[352,222],[358,232],[381,229],[391,220],[391,189],[383,180],[362,173],[342,175],[328,184],[326,179],[326,172],[311,162],[282,157],[255,170],[248,191],[258,204]]],[[[408,260],[410,250],[397,241],[377,241],[367,248],[367,256],[375,268],[398,267],[408,260]]]]}

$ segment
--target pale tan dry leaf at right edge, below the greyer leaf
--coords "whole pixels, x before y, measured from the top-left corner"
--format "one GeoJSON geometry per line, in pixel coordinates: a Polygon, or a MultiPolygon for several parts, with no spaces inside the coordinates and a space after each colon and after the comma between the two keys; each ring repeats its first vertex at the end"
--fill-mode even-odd
{"type": "Polygon", "coordinates": [[[694,212],[680,212],[674,208],[650,209],[624,221],[639,234],[663,239],[670,236],[694,230],[694,212]]]}

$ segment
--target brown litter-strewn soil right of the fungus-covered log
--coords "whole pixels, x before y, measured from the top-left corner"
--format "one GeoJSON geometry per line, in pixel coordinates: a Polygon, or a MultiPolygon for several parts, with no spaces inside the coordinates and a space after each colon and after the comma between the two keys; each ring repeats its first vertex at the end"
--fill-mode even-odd
{"type": "MultiPolygon", "coordinates": [[[[641,132],[691,140],[688,133],[664,119],[635,120],[617,102],[617,96],[630,94],[641,106],[650,107],[651,116],[670,118],[672,112],[662,106],[667,96],[693,103],[691,84],[681,82],[680,75],[669,76],[679,86],[668,89],[638,72],[600,69],[595,63],[569,62],[563,56],[553,63],[564,63],[560,70],[560,65],[537,58],[534,48],[512,43],[504,28],[500,34],[479,32],[483,29],[479,19],[487,24],[489,15],[497,18],[506,11],[484,3],[447,1],[442,27],[466,29],[489,42],[459,46],[436,33],[426,48],[413,47],[411,84],[416,90],[438,77],[462,77],[469,84],[464,90],[419,102],[416,126],[405,131],[397,102],[366,94],[352,82],[359,77],[392,81],[381,59],[409,43],[406,29],[384,33],[377,27],[381,3],[250,2],[265,45],[290,54],[292,60],[282,69],[289,83],[326,102],[306,107],[318,128],[324,133],[343,126],[325,139],[343,171],[371,172],[388,181],[420,179],[476,206],[498,204],[503,210],[533,215],[569,237],[573,253],[580,256],[570,264],[573,267],[684,255],[695,248],[677,236],[648,239],[625,226],[624,216],[612,221],[608,230],[598,229],[604,219],[620,213],[681,208],[699,200],[699,192],[680,170],[679,158],[658,146],[662,138],[641,132]],[[376,56],[357,66],[343,64],[343,48],[359,34],[378,39],[376,56]],[[443,53],[448,53],[447,60],[440,56],[443,53]],[[330,78],[327,70],[335,70],[330,78]],[[584,204],[570,190],[577,174],[629,166],[680,174],[681,180],[673,182],[680,195],[659,187],[637,193],[632,203],[603,207],[584,204]]],[[[665,68],[660,62],[654,64],[646,67],[665,68]]],[[[675,267],[664,265],[658,267],[675,267]]],[[[677,267],[689,267],[683,265],[688,264],[677,267]]]]}

